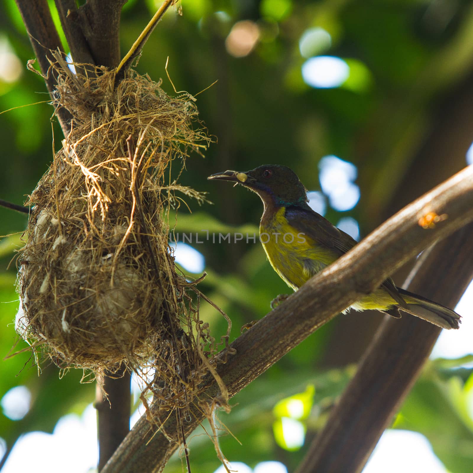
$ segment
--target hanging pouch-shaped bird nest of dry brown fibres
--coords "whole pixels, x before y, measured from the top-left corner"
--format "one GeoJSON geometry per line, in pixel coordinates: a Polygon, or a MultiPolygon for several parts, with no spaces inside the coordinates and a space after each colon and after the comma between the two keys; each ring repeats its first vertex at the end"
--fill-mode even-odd
{"type": "Polygon", "coordinates": [[[200,293],[168,245],[169,208],[203,196],[177,184],[171,164],[180,175],[210,138],[189,94],[168,96],[132,70],[118,85],[114,71],[80,65],[92,73],[75,74],[55,58],[54,105],[73,122],[26,202],[17,331],[37,361],[46,354],[61,368],[156,368],[160,395],[175,407],[216,347],[191,304],[200,293]]]}

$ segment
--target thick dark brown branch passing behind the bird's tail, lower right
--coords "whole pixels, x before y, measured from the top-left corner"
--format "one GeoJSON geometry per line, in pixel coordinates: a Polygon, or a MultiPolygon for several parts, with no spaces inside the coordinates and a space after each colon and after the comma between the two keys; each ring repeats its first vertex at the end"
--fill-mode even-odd
{"type": "MultiPolygon", "coordinates": [[[[472,234],[469,224],[426,250],[406,281],[407,289],[455,307],[473,277],[472,234]]],[[[386,319],[298,472],[360,472],[440,331],[414,317],[386,319]]]]}

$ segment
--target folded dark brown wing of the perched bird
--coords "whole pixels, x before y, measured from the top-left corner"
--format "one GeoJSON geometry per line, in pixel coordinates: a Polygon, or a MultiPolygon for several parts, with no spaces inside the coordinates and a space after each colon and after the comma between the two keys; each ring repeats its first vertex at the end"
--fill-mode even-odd
{"type": "MultiPolygon", "coordinates": [[[[319,245],[330,248],[339,257],[350,251],[358,243],[348,233],[332,225],[310,207],[307,207],[307,209],[288,207],[285,217],[291,227],[300,233],[304,233],[319,245]]],[[[401,307],[407,307],[391,278],[386,279],[382,287],[401,307]]]]}

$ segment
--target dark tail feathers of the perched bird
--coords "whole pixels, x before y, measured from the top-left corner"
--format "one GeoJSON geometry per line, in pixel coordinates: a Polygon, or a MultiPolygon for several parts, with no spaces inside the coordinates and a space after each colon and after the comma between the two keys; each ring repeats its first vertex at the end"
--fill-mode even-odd
{"type": "Polygon", "coordinates": [[[397,289],[407,303],[407,308],[400,307],[404,312],[427,320],[427,322],[438,327],[446,329],[457,329],[459,327],[461,317],[453,310],[417,294],[412,294],[412,292],[401,288],[397,289]]]}

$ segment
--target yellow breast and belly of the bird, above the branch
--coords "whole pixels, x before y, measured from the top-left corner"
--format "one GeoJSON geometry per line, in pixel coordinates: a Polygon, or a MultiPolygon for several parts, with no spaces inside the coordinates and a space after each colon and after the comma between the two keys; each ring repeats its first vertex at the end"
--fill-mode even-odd
{"type": "Polygon", "coordinates": [[[267,226],[260,226],[260,239],[274,271],[294,290],[316,272],[333,263],[337,255],[298,233],[284,217],[281,208],[267,226]]]}

